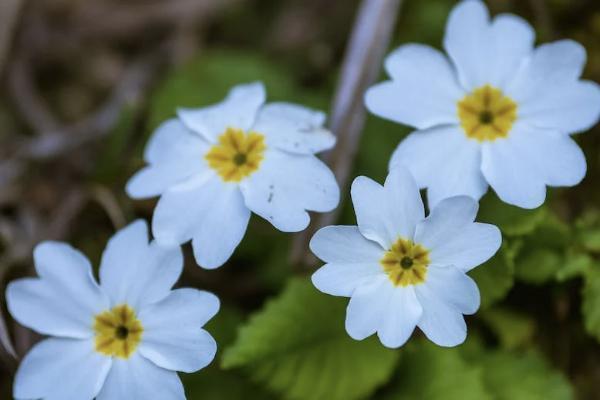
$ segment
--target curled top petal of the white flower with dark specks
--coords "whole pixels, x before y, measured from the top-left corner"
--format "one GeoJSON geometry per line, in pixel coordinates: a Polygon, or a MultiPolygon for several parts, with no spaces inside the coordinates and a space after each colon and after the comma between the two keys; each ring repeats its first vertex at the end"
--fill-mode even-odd
{"type": "Polygon", "coordinates": [[[220,103],[200,109],[179,109],[177,115],[189,129],[214,143],[229,127],[250,129],[265,98],[265,87],[260,82],[238,85],[220,103]]]}

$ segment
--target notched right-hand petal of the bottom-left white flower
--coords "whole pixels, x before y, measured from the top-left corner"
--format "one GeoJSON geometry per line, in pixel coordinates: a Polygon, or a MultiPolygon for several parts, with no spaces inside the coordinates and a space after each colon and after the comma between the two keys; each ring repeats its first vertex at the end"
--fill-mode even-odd
{"type": "Polygon", "coordinates": [[[196,289],[177,289],[139,313],[144,326],[140,354],[159,367],[194,372],[215,357],[217,344],[201,327],[219,310],[219,299],[196,289]]]}

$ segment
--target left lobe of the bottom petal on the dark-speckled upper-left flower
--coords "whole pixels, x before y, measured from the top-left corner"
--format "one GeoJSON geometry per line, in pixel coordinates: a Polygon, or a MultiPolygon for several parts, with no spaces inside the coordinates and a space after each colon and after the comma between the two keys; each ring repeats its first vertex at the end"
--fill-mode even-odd
{"type": "Polygon", "coordinates": [[[152,233],[163,245],[190,240],[202,220],[221,201],[229,184],[211,173],[167,190],[158,200],[152,217],[152,233]]]}

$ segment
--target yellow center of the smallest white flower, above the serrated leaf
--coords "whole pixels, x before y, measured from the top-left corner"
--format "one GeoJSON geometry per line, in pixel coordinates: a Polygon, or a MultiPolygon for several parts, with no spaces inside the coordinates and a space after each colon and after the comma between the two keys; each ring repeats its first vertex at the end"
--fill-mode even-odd
{"type": "Polygon", "coordinates": [[[381,266],[396,286],[425,282],[429,251],[408,239],[398,239],[381,259],[381,266]]]}

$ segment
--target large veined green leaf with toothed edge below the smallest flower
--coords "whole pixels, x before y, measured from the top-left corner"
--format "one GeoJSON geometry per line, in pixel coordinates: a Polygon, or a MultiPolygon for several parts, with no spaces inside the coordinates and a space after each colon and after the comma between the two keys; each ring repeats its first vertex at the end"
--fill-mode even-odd
{"type": "Polygon", "coordinates": [[[308,280],[292,280],[240,329],[223,367],[245,367],[285,399],[364,398],[387,381],[399,352],[374,337],[351,339],[344,330],[346,303],[308,280]]]}

